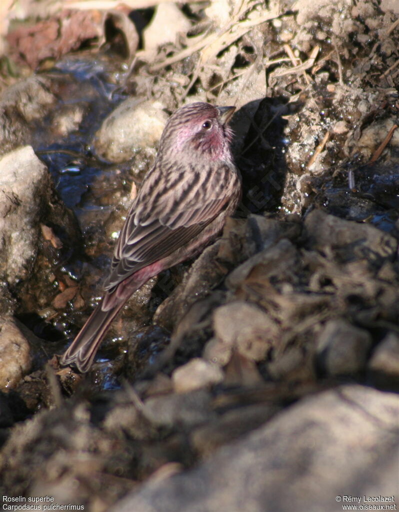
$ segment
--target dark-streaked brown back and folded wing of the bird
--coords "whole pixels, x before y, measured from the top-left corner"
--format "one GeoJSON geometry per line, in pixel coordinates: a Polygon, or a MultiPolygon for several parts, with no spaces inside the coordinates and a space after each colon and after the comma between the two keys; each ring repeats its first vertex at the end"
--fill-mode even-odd
{"type": "MultiPolygon", "coordinates": [[[[154,171],[154,169],[152,169],[154,171]]],[[[207,176],[161,189],[162,180],[145,181],[132,204],[121,230],[112,261],[112,271],[104,288],[110,290],[129,275],[183,247],[224,209],[235,168],[217,168],[207,176]],[[183,193],[182,193],[183,191],[183,193]],[[145,198],[150,200],[145,201],[145,198]],[[187,199],[184,200],[184,199],[187,199]]],[[[195,172],[192,173],[193,176],[195,172]]],[[[198,173],[197,173],[198,174],[198,173]]],[[[187,176],[186,174],[183,176],[187,176]]]]}

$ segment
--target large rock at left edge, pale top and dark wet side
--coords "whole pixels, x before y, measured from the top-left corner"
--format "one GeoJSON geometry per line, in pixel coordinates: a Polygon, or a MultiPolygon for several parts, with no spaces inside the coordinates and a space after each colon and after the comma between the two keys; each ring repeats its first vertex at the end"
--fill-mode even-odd
{"type": "MultiPolygon", "coordinates": [[[[80,248],[81,233],[31,146],[0,159],[0,311],[29,312],[54,296],[53,269],[80,248]],[[10,292],[16,299],[10,301],[10,292]]],[[[74,285],[75,282],[71,282],[74,285]]]]}

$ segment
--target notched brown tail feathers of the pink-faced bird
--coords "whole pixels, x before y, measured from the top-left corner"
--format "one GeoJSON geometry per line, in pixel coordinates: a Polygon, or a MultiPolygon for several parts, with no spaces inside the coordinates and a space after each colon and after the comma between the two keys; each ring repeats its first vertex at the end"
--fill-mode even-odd
{"type": "Polygon", "coordinates": [[[60,364],[62,366],[74,363],[80,372],[87,372],[92,366],[94,356],[110,323],[124,306],[126,299],[116,302],[106,311],[102,309],[103,302],[104,300],[88,317],[72,344],[61,357],[60,364]]]}

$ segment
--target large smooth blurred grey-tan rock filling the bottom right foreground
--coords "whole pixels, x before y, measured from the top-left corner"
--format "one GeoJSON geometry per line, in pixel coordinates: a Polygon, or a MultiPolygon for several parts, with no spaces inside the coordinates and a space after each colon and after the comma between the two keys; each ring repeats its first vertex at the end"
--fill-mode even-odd
{"type": "Polygon", "coordinates": [[[359,385],[325,391],[191,471],[144,483],[110,510],[337,512],[337,496],[392,496],[398,414],[394,393],[359,385]]]}

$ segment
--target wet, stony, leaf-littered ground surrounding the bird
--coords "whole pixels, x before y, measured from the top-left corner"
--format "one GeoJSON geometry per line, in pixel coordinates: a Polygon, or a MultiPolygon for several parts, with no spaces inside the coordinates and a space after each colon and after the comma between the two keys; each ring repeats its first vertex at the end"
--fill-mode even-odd
{"type": "Polygon", "coordinates": [[[9,29],[29,76],[5,75],[0,98],[2,495],[140,512],[392,496],[397,6],[162,6],[92,14],[80,33],[101,48],[71,53],[61,30],[42,58],[9,29]],[[191,101],[237,107],[236,216],[132,296],[88,374],[62,368],[191,101]]]}

